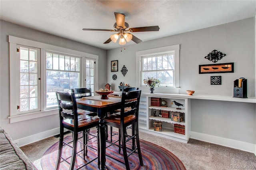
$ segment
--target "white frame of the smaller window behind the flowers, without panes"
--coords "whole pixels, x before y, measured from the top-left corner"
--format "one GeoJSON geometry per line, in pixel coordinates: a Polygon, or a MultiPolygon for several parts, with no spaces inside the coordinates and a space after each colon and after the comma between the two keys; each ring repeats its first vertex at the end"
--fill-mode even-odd
{"type": "Polygon", "coordinates": [[[156,56],[162,55],[166,53],[174,53],[174,87],[164,87],[159,86],[161,89],[180,89],[180,78],[179,78],[179,61],[180,61],[180,44],[170,45],[166,47],[159,47],[154,49],[146,49],[142,51],[136,51],[136,86],[140,88],[145,88],[146,85],[142,85],[141,75],[141,65],[142,65],[142,57],[145,56],[156,56]]]}

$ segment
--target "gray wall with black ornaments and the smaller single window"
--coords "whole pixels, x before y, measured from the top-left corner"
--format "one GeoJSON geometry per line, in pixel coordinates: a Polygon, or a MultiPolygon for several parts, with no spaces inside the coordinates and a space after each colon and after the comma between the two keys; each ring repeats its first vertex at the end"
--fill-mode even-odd
{"type": "MultiPolygon", "coordinates": [[[[121,81],[136,86],[136,51],[180,44],[179,93],[195,90],[195,95],[233,96],[233,81],[245,77],[248,81],[248,97],[255,97],[254,30],[255,18],[248,18],[158,40],[126,45],[122,52],[120,48],[108,50],[107,83],[110,83],[114,90],[118,90],[121,81]],[[198,73],[198,65],[214,64],[204,58],[214,49],[226,54],[217,63],[234,62],[234,73],[198,73]],[[110,71],[112,60],[118,60],[118,72],[110,71]],[[120,72],[123,65],[128,69],[125,77],[120,72]],[[113,74],[117,75],[115,81],[112,79],[113,74]],[[222,85],[210,85],[210,76],[214,75],[222,76],[222,85]]],[[[136,33],[133,34],[137,36],[136,33]]],[[[157,91],[157,88],[155,89],[157,91]]],[[[149,91],[142,88],[142,92],[149,91]]],[[[191,131],[255,144],[255,113],[255,103],[192,99],[191,131]]]]}

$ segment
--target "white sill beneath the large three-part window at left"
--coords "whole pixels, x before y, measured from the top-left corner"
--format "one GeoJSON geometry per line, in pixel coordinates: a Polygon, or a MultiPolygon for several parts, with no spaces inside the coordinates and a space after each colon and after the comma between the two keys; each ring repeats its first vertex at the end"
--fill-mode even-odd
{"type": "Polygon", "coordinates": [[[23,115],[9,116],[8,119],[10,119],[10,123],[16,123],[16,122],[27,121],[30,119],[36,119],[36,118],[51,116],[56,114],[58,114],[58,109],[52,109],[52,110],[28,113],[23,115]]]}

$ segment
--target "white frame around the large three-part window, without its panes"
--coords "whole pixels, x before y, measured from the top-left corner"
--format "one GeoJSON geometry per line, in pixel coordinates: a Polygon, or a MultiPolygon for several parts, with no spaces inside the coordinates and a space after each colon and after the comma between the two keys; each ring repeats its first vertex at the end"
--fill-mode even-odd
{"type": "Polygon", "coordinates": [[[96,65],[95,65],[95,87],[98,87],[98,55],[90,54],[90,53],[85,53],[81,51],[76,51],[73,49],[67,49],[63,47],[58,47],[55,45],[50,45],[46,43],[41,43],[41,42],[36,42],[32,40],[27,40],[24,38],[18,38],[14,36],[8,36],[9,38],[9,53],[10,53],[10,116],[8,117],[10,119],[10,123],[15,123],[15,122],[20,122],[20,121],[26,121],[30,119],[35,119],[39,117],[45,117],[45,116],[50,116],[50,115],[55,115],[58,114],[58,109],[52,109],[52,110],[44,110],[44,97],[46,95],[44,94],[45,91],[45,70],[46,70],[46,62],[45,62],[45,50],[47,51],[55,51],[58,53],[66,53],[74,56],[80,56],[82,58],[87,57],[90,59],[95,59],[96,65]],[[19,96],[16,92],[17,89],[17,59],[16,59],[16,49],[17,49],[17,44],[20,45],[26,45],[30,47],[36,47],[41,49],[41,111],[39,112],[34,112],[34,113],[27,113],[27,114],[22,114],[18,115],[17,112],[17,96],[19,96]],[[44,63],[44,64],[42,64],[44,63]],[[15,67],[14,67],[15,66],[15,67]]]}

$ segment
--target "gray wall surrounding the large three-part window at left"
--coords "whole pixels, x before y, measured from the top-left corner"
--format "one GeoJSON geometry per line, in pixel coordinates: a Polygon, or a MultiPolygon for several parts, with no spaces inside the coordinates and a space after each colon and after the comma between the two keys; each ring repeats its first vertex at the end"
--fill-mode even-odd
{"type": "MultiPolygon", "coordinates": [[[[40,132],[45,132],[59,127],[59,116],[52,115],[38,119],[31,119],[10,124],[10,75],[9,75],[9,43],[8,35],[48,43],[59,47],[65,47],[99,56],[98,60],[98,85],[102,87],[106,83],[106,50],[92,47],[84,43],[75,42],[58,36],[46,34],[10,22],[0,21],[1,47],[0,47],[0,125],[12,136],[13,140],[24,138],[40,132]],[[102,74],[105,73],[105,74],[102,74]]],[[[96,87],[97,89],[98,87],[96,87]]]]}

